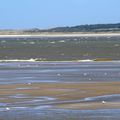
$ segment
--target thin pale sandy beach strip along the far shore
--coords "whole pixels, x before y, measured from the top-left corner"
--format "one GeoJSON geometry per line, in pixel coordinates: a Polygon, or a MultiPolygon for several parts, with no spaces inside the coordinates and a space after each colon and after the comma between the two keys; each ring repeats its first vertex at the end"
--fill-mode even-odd
{"type": "Polygon", "coordinates": [[[40,34],[11,34],[0,35],[2,37],[112,37],[120,36],[120,33],[40,33],[40,34]]]}

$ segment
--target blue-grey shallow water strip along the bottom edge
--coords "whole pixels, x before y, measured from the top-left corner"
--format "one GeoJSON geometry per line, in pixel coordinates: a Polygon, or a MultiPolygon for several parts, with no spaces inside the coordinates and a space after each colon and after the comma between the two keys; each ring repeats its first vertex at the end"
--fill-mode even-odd
{"type": "Polygon", "coordinates": [[[120,109],[101,110],[64,110],[14,108],[9,112],[1,111],[4,120],[119,120],[120,109]]]}

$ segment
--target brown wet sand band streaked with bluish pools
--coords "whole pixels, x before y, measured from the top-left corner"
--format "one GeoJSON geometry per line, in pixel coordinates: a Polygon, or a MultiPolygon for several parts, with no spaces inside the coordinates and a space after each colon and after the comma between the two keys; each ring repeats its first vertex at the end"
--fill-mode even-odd
{"type": "Polygon", "coordinates": [[[120,82],[1,85],[0,95],[3,97],[0,103],[6,104],[6,107],[50,105],[71,109],[119,108],[119,86],[120,82]]]}

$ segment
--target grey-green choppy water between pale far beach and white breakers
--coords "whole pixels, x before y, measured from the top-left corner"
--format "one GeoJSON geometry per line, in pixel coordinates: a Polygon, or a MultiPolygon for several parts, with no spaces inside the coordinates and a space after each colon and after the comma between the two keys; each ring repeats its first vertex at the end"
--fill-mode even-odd
{"type": "Polygon", "coordinates": [[[120,59],[120,37],[0,38],[0,59],[120,59]]]}

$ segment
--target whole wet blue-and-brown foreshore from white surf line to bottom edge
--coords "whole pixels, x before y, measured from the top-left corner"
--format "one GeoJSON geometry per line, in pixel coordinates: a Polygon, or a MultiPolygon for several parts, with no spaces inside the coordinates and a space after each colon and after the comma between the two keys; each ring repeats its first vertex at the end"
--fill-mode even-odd
{"type": "Polygon", "coordinates": [[[0,118],[119,120],[119,63],[1,62],[0,118]]]}

